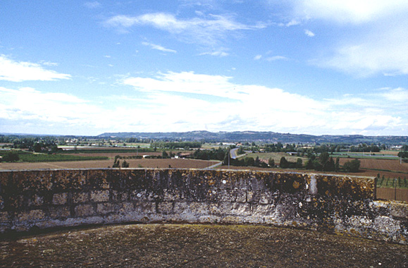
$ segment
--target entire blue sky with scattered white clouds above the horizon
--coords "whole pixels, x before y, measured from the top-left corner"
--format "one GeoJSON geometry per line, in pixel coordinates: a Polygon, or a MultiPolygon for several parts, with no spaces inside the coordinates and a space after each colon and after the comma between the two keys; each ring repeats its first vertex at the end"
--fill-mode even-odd
{"type": "Polygon", "coordinates": [[[0,133],[408,135],[406,0],[0,1],[0,133]]]}

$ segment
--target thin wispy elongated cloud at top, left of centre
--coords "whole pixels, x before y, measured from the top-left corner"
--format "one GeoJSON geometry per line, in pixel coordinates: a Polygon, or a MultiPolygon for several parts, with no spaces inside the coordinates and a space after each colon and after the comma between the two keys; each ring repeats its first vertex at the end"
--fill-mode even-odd
{"type": "Polygon", "coordinates": [[[204,45],[217,44],[228,34],[240,30],[265,28],[265,25],[245,25],[228,16],[211,15],[209,18],[179,19],[169,13],[147,13],[141,16],[114,16],[106,20],[110,27],[126,31],[133,26],[148,25],[170,32],[185,42],[204,45]]]}

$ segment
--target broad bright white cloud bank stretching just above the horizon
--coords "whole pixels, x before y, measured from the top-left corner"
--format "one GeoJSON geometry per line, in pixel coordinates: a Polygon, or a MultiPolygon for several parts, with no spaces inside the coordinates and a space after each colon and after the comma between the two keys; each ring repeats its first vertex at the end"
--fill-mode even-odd
{"type": "Polygon", "coordinates": [[[240,85],[228,76],[193,72],[137,76],[121,83],[135,90],[92,101],[27,87],[0,87],[0,120],[15,131],[58,126],[65,132],[86,129],[88,135],[202,129],[406,135],[408,128],[404,88],[320,101],[279,88],[240,85]]]}

